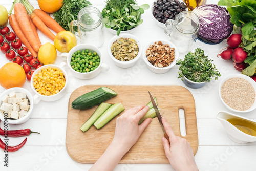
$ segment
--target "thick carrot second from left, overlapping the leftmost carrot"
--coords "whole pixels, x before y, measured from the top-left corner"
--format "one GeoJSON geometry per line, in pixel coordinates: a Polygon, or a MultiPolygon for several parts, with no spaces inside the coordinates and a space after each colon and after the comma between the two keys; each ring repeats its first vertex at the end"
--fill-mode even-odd
{"type": "Polygon", "coordinates": [[[29,44],[36,52],[38,52],[40,47],[38,45],[38,42],[35,38],[35,34],[30,25],[26,8],[24,7],[24,5],[22,3],[16,3],[14,5],[14,14],[15,14],[17,23],[18,23],[20,29],[22,29],[23,34],[29,41],[29,44]]]}

